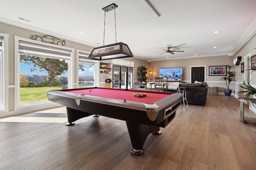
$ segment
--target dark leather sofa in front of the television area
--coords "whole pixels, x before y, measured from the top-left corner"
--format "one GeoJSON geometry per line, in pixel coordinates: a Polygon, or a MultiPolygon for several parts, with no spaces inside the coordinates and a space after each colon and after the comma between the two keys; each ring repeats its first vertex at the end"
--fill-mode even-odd
{"type": "MultiPolygon", "coordinates": [[[[188,104],[205,106],[208,92],[206,82],[202,83],[180,83],[179,87],[186,88],[188,104]]],[[[177,92],[177,90],[167,90],[168,92],[177,92]]]]}

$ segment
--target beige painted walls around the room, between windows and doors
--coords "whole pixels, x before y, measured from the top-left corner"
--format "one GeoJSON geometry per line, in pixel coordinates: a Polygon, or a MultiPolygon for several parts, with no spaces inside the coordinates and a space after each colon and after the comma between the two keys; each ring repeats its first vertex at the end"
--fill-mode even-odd
{"type": "MultiPolygon", "coordinates": [[[[14,88],[13,85],[15,83],[15,73],[14,73],[14,65],[15,65],[15,59],[14,59],[14,35],[17,35],[19,37],[29,38],[30,35],[47,35],[46,33],[39,33],[36,31],[31,31],[28,29],[16,27],[13,25],[8,25],[6,23],[0,22],[0,33],[6,33],[9,35],[9,56],[8,56],[8,85],[10,86],[8,90],[8,102],[9,102],[9,111],[14,111],[14,88]]],[[[60,39],[63,39],[62,37],[59,37],[60,39]]],[[[76,43],[72,41],[66,40],[66,47],[74,48],[74,62],[77,61],[76,59],[76,50],[80,49],[83,51],[92,51],[93,47],[90,47],[88,45],[84,45],[81,43],[76,43]]],[[[256,37],[254,36],[236,55],[234,56],[215,56],[215,57],[194,57],[190,59],[178,59],[178,60],[165,60],[165,61],[152,61],[148,63],[147,61],[137,59],[135,57],[126,58],[126,60],[134,61],[134,82],[138,82],[138,75],[137,68],[138,66],[146,66],[148,70],[153,71],[153,78],[157,75],[159,75],[159,68],[168,68],[168,67],[183,67],[183,76],[184,81],[189,82],[190,81],[190,66],[204,66],[206,65],[206,82],[209,84],[209,86],[217,86],[218,87],[218,93],[223,93],[223,89],[226,88],[226,85],[224,82],[220,81],[221,76],[209,76],[209,66],[219,66],[219,65],[226,65],[226,64],[232,64],[232,61],[234,57],[236,56],[242,56],[242,62],[244,60],[244,56],[248,55],[248,53],[251,53],[252,55],[256,54],[256,37]]],[[[132,50],[132,49],[131,49],[132,50]]],[[[108,61],[104,61],[108,63],[108,61]]],[[[111,63],[111,61],[109,61],[111,63]]],[[[240,72],[240,65],[235,68],[236,71],[236,82],[232,83],[230,85],[230,89],[239,91],[238,84],[242,83],[243,73],[240,72]]],[[[77,72],[74,70],[74,75],[76,75],[77,72]]],[[[252,74],[252,76],[256,75],[256,73],[252,74]]],[[[255,76],[256,77],[256,76],[255,76]]],[[[104,84],[104,80],[108,78],[108,74],[100,74],[100,86],[106,86],[104,84]]],[[[147,78],[149,80],[149,74],[147,74],[147,78]]],[[[254,80],[254,82],[256,79],[254,80]]],[[[77,82],[76,76],[74,77],[74,82],[77,82]]],[[[256,83],[255,83],[256,84],[256,83]]],[[[241,96],[242,94],[240,94],[241,96]]]]}

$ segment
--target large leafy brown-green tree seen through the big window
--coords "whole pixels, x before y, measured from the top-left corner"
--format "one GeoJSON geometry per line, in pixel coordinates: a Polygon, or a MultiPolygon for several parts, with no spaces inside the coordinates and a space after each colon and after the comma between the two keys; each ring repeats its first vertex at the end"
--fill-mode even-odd
{"type": "Polygon", "coordinates": [[[68,70],[68,63],[65,60],[36,57],[30,55],[20,55],[20,63],[34,66],[30,71],[48,72],[47,81],[53,82],[54,77],[64,74],[68,70]]]}

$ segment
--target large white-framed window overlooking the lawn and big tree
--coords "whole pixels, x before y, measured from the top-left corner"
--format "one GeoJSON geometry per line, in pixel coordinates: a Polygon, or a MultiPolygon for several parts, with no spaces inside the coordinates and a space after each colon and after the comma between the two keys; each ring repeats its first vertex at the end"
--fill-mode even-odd
{"type": "Polygon", "coordinates": [[[72,88],[72,49],[15,37],[18,43],[18,106],[48,102],[48,90],[72,88]]]}

